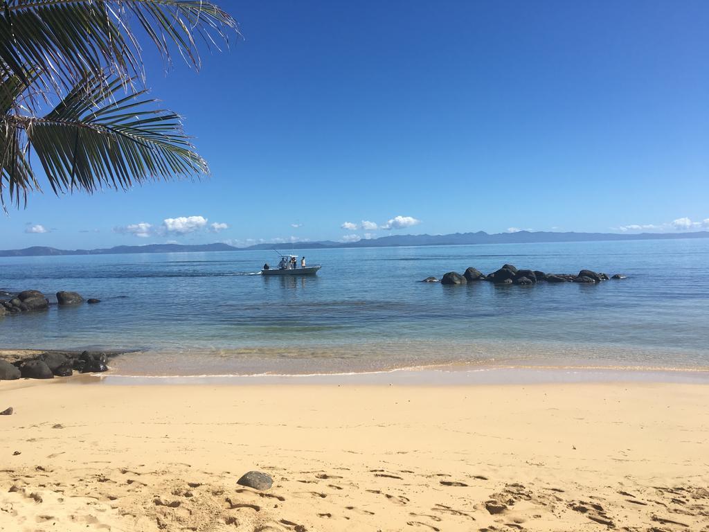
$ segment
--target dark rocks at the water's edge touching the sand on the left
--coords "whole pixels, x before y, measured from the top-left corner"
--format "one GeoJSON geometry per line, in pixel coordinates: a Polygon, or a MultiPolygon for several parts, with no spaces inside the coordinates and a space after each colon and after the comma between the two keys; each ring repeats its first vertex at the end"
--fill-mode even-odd
{"type": "Polygon", "coordinates": [[[29,360],[0,360],[0,380],[53,379],[79,373],[100,373],[108,370],[108,356],[99,351],[82,353],[48,351],[29,360]]]}

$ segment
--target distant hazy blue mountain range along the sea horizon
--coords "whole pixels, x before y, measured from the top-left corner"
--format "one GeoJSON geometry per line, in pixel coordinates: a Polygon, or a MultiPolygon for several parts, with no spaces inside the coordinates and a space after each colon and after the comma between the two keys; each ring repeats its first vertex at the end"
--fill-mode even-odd
{"type": "Polygon", "coordinates": [[[551,231],[518,231],[517,233],[488,234],[452,233],[450,235],[390,235],[357,242],[296,242],[267,243],[235,248],[233,245],[214,244],[147,244],[117,245],[114,248],[96,250],[58,250],[46,246],[33,246],[22,250],[0,251],[0,257],[44,257],[50,255],[115,255],[124,253],[190,253],[199,251],[245,251],[245,250],[306,250],[325,248],[386,248],[403,245],[463,245],[463,244],[520,244],[535,242],[598,242],[601,240],[674,240],[676,238],[709,238],[709,231],[693,233],[554,233],[551,231]]]}

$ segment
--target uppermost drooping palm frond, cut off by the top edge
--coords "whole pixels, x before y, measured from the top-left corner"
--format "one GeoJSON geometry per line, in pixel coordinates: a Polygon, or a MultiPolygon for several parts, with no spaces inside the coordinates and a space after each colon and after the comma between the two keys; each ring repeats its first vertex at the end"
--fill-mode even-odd
{"type": "Polygon", "coordinates": [[[170,48],[194,67],[196,40],[228,44],[236,21],[208,1],[6,0],[0,9],[0,75],[28,82],[27,68],[45,84],[68,89],[83,72],[140,75],[140,45],[132,21],[169,60],[170,48]]]}

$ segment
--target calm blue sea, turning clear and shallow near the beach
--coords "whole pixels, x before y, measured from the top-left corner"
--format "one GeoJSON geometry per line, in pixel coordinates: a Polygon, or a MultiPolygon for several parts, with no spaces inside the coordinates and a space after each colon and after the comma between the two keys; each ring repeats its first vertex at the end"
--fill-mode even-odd
{"type": "MultiPolygon", "coordinates": [[[[294,251],[316,277],[255,275],[270,251],[0,258],[0,289],[101,304],[0,318],[0,348],[138,349],[123,374],[362,372],[426,365],[709,367],[709,240],[294,251]],[[598,285],[447,287],[510,262],[598,285]]],[[[50,301],[52,298],[50,298],[50,301]]]]}

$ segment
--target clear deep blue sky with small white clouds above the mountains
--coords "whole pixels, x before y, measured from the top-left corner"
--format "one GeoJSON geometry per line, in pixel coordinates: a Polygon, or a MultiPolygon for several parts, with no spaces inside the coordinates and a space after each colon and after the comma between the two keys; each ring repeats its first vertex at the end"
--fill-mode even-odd
{"type": "Polygon", "coordinates": [[[201,72],[146,54],[211,177],[33,194],[0,248],[709,228],[708,2],[220,5],[201,72]]]}

